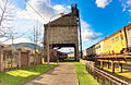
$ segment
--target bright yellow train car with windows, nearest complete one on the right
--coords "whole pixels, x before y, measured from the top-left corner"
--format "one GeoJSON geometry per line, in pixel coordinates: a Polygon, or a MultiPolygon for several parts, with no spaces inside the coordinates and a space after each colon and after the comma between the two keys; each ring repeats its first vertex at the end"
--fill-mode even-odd
{"type": "Polygon", "coordinates": [[[123,27],[104,39],[103,53],[122,53],[124,48],[127,48],[126,40],[126,28],[123,27]]]}

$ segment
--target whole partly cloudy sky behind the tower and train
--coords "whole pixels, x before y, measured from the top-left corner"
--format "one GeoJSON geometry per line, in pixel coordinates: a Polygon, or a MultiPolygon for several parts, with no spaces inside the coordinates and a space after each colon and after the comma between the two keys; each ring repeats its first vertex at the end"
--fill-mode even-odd
{"type": "MultiPolygon", "coordinates": [[[[83,49],[100,41],[131,22],[131,0],[27,0],[27,2],[46,21],[34,12],[25,0],[13,0],[12,5],[15,8],[13,25],[20,35],[25,35],[15,39],[14,42],[29,41],[27,39],[29,28],[43,27],[43,24],[48,23],[53,14],[69,13],[72,3],[78,3],[80,10],[83,49]]],[[[59,16],[52,20],[57,17],[59,16]]]]}

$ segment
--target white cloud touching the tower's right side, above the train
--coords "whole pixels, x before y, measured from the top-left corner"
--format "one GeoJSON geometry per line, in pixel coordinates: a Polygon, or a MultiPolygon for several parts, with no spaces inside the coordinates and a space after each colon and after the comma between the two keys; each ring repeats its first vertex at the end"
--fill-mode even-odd
{"type": "Polygon", "coordinates": [[[83,40],[96,40],[99,38],[102,33],[95,33],[90,24],[82,20],[82,39],[83,40]]]}

